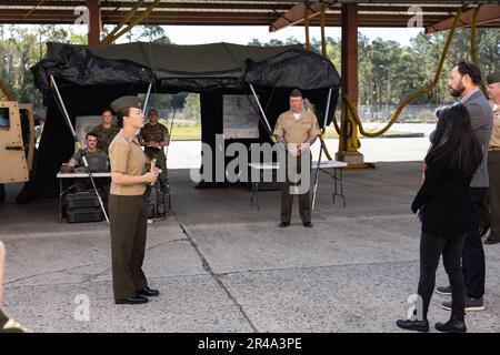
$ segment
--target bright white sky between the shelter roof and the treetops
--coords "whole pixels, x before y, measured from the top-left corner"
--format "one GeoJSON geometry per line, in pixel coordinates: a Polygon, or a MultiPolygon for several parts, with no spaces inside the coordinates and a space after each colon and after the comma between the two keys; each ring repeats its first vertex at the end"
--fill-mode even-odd
{"type": "MultiPolygon", "coordinates": [[[[163,26],[166,34],[170,41],[176,44],[202,44],[211,42],[230,42],[237,44],[247,44],[257,38],[260,42],[269,42],[271,39],[286,41],[289,37],[294,37],[300,42],[306,42],[303,27],[289,27],[278,32],[269,32],[267,27],[236,27],[236,26],[213,26],[213,27],[189,27],[189,26],[163,26]],[[203,33],[200,37],[200,33],[203,33]]],[[[370,40],[381,38],[384,40],[394,40],[401,45],[410,45],[410,40],[423,28],[360,28],[360,32],[370,40]]],[[[320,39],[321,32],[319,27],[311,27],[309,31],[310,38],[320,39]]],[[[340,28],[327,28],[324,31],[327,37],[340,39],[340,28]]]]}

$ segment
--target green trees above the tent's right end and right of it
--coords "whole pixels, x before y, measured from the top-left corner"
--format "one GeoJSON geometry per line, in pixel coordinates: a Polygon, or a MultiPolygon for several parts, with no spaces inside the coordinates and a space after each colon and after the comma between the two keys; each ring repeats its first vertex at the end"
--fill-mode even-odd
{"type": "MultiPolygon", "coordinates": [[[[434,79],[444,43],[449,32],[432,36],[420,33],[411,45],[402,47],[398,42],[376,39],[369,41],[359,36],[359,103],[381,108],[384,104],[398,105],[401,100],[421,88],[428,87],[434,79]]],[[[262,43],[253,39],[253,45],[280,45],[271,40],[262,43]]],[[[299,43],[294,38],[287,39],[286,44],[299,43]]],[[[321,41],[311,40],[312,51],[321,53],[321,41]]],[[[484,77],[500,70],[500,29],[478,29],[478,61],[484,77]]],[[[327,38],[327,57],[341,73],[341,42],[327,38]]],[[[457,31],[450,51],[444,61],[441,77],[436,89],[413,103],[439,104],[451,100],[448,93],[448,73],[454,63],[470,60],[470,29],[457,31]]]]}

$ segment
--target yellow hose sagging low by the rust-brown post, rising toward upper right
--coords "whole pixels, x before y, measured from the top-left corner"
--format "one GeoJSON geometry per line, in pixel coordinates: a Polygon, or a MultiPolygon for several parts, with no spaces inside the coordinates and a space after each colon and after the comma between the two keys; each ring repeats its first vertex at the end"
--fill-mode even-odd
{"type": "Polygon", "coordinates": [[[434,75],[434,79],[432,80],[432,82],[429,84],[429,87],[422,88],[422,89],[418,90],[417,92],[414,92],[413,94],[407,97],[407,98],[403,100],[403,102],[399,105],[398,110],[394,112],[394,114],[393,114],[393,116],[391,118],[391,120],[389,121],[389,123],[388,123],[382,130],[380,130],[380,131],[378,131],[378,132],[367,132],[367,131],[364,131],[363,125],[362,125],[362,122],[361,122],[361,120],[360,120],[360,118],[359,118],[357,108],[354,106],[354,104],[352,103],[352,101],[349,99],[348,95],[342,95],[342,99],[343,99],[343,101],[344,101],[344,103],[346,103],[346,105],[342,106],[342,111],[343,111],[343,110],[347,110],[347,111],[348,111],[348,114],[350,114],[350,115],[354,119],[356,123],[357,123],[358,126],[359,126],[359,131],[360,131],[360,133],[361,133],[362,135],[368,136],[368,138],[374,138],[374,136],[382,135],[382,134],[386,133],[386,132],[391,128],[391,125],[398,120],[398,118],[399,118],[399,115],[401,114],[402,110],[403,110],[408,104],[410,104],[411,102],[413,102],[413,101],[414,101],[416,99],[418,99],[419,97],[421,97],[421,95],[423,95],[423,94],[426,94],[426,93],[429,93],[430,91],[432,91],[432,90],[436,88],[436,85],[437,85],[437,83],[438,83],[438,81],[439,81],[439,78],[440,78],[440,75],[441,75],[442,67],[443,67],[443,64],[444,64],[444,60],[446,60],[446,58],[447,58],[448,50],[449,50],[449,48],[450,48],[450,45],[451,45],[451,40],[453,39],[453,36],[454,36],[454,32],[456,32],[456,30],[457,30],[457,27],[458,27],[458,23],[459,23],[459,20],[460,20],[461,14],[462,14],[462,9],[460,8],[460,9],[458,10],[458,12],[457,12],[457,17],[456,17],[454,20],[453,20],[453,26],[452,26],[451,29],[450,29],[450,33],[449,33],[448,39],[447,39],[447,43],[446,43],[444,49],[443,49],[443,52],[442,52],[442,54],[441,54],[441,59],[439,60],[438,70],[436,71],[436,75],[434,75]]]}

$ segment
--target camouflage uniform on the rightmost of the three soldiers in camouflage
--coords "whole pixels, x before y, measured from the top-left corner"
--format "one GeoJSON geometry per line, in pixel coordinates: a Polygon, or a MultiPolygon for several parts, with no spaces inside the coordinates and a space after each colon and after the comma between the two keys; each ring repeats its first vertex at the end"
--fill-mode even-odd
{"type": "MultiPolygon", "coordinates": [[[[140,139],[144,144],[148,142],[163,142],[169,139],[169,130],[161,124],[160,122],[157,122],[157,124],[147,123],[141,129],[141,132],[139,133],[140,139]]],[[[169,194],[169,184],[168,184],[168,172],[167,172],[167,156],[164,155],[163,146],[161,148],[154,148],[154,146],[146,146],[144,153],[148,155],[149,159],[156,159],[157,160],[157,166],[161,169],[161,174],[158,179],[160,182],[160,189],[162,194],[169,194]]],[[[160,194],[157,193],[157,199],[160,197],[160,194]]],[[[166,210],[170,210],[170,206],[164,205],[166,201],[162,201],[163,206],[166,210]]]]}

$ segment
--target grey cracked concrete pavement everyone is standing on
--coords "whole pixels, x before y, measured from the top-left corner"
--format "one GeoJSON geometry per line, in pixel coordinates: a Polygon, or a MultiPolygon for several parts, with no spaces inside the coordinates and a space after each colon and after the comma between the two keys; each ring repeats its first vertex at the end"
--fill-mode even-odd
{"type": "MultiPolygon", "coordinates": [[[[394,142],[380,144],[400,152],[394,142]]],[[[427,143],[404,146],[421,159],[427,143]]],[[[297,202],[292,225],[278,227],[276,191],[261,192],[257,210],[244,187],[197,190],[187,169],[171,170],[174,215],[149,225],[144,265],[161,296],[140,306],[113,304],[106,223],[59,223],[57,200],[4,203],[4,308],[34,332],[398,332],[418,281],[409,205],[420,165],[346,171],[346,209],[332,204],[322,175],[312,230],[299,223],[297,202]],[[76,320],[78,295],[90,302],[89,322],[76,320]]],[[[467,315],[471,332],[500,331],[500,245],[486,251],[487,311],[467,315]]],[[[449,316],[446,300],[433,296],[431,322],[449,316]]]]}

